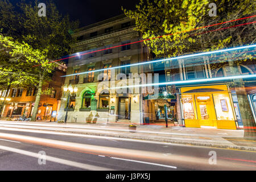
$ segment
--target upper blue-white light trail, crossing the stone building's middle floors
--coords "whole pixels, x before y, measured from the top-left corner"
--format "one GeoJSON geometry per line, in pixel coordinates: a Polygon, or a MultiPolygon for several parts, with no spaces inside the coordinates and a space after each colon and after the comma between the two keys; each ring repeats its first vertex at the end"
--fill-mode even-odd
{"type": "Polygon", "coordinates": [[[111,69],[118,69],[118,68],[125,68],[125,67],[134,67],[134,66],[144,65],[144,64],[159,63],[159,62],[162,62],[162,61],[170,61],[170,60],[185,59],[185,58],[189,58],[189,57],[205,56],[205,55],[210,55],[210,54],[214,54],[214,53],[222,53],[222,52],[228,52],[228,51],[237,51],[237,50],[241,50],[241,49],[255,48],[255,47],[256,47],[256,44],[250,45],[250,46],[242,46],[242,47],[236,47],[236,48],[221,49],[221,50],[217,50],[217,51],[201,52],[201,53],[195,53],[195,54],[192,54],[192,55],[184,55],[184,56],[178,56],[178,57],[170,57],[170,58],[167,58],[167,59],[160,59],[160,60],[147,61],[147,62],[142,62],[142,63],[135,63],[135,64],[129,64],[129,65],[122,65],[122,66],[112,67],[112,68],[97,69],[97,70],[94,70],[94,71],[88,71],[88,72],[82,72],[82,73],[75,73],[75,74],[65,75],[65,76],[61,76],[61,77],[68,77],[68,76],[75,76],[75,75],[83,75],[83,74],[86,74],[86,73],[101,72],[101,71],[106,71],[106,70],[111,70],[111,69]]]}

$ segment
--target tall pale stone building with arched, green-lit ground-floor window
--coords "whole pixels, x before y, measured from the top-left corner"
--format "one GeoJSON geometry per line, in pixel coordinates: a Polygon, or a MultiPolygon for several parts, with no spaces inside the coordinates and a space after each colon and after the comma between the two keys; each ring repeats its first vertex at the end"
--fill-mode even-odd
{"type": "Polygon", "coordinates": [[[68,60],[65,85],[73,85],[77,93],[69,100],[68,94],[63,93],[58,121],[64,121],[68,114],[67,122],[97,119],[97,122],[143,123],[141,89],[138,92],[110,89],[133,74],[142,73],[143,67],[126,67],[143,61],[144,57],[141,43],[130,44],[140,40],[134,26],[133,20],[119,15],[73,34],[77,42],[71,45],[73,54],[68,60]],[[108,69],[114,67],[118,68],[108,69]]]}

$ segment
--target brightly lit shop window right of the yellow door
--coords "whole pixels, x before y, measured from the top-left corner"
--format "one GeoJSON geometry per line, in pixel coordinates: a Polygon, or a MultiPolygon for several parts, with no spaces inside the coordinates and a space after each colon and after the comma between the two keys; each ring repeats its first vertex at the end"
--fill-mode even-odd
{"type": "Polygon", "coordinates": [[[229,94],[213,94],[217,120],[234,120],[229,94]]]}

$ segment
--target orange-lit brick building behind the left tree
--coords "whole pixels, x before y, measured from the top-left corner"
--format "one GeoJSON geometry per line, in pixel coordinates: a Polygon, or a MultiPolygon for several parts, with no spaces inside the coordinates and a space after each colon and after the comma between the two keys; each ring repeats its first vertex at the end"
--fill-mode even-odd
{"type": "MultiPolygon", "coordinates": [[[[59,63],[56,63],[59,64],[59,63]]],[[[65,64],[59,64],[59,66],[53,72],[51,81],[43,85],[42,90],[52,89],[52,93],[49,95],[42,94],[39,101],[38,113],[36,119],[44,119],[49,121],[53,111],[57,114],[60,107],[61,86],[64,82],[64,78],[67,67],[65,64]]],[[[34,110],[37,88],[12,88],[9,90],[8,98],[10,102],[5,105],[2,111],[2,118],[14,119],[19,116],[31,117],[34,110]]],[[[3,96],[4,90],[0,91],[0,95],[3,96]],[[3,93],[3,94],[2,94],[3,93]]],[[[4,96],[3,96],[4,97],[4,96]]]]}

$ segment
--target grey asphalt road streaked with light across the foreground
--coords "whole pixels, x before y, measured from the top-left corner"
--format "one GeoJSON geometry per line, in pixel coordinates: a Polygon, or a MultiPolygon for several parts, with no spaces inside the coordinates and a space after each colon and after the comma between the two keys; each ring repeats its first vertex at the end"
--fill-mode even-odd
{"type": "Polygon", "coordinates": [[[252,151],[0,129],[0,170],[256,170],[255,159],[256,152],[252,151]]]}

